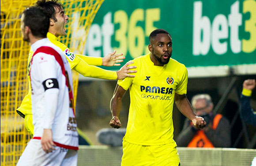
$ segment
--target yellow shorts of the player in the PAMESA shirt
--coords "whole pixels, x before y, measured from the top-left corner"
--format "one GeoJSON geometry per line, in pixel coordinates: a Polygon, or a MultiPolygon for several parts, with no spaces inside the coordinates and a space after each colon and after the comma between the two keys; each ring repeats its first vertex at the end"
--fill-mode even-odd
{"type": "Polygon", "coordinates": [[[121,166],[180,166],[177,144],[145,146],[123,141],[121,166]]]}

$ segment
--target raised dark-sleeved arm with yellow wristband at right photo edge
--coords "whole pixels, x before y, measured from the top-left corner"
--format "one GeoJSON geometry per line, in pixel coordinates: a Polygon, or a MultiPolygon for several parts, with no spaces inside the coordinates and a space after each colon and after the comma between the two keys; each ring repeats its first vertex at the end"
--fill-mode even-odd
{"type": "Polygon", "coordinates": [[[256,112],[253,111],[250,104],[252,90],[255,88],[255,79],[246,79],[243,83],[241,94],[240,116],[245,123],[256,126],[256,112]]]}

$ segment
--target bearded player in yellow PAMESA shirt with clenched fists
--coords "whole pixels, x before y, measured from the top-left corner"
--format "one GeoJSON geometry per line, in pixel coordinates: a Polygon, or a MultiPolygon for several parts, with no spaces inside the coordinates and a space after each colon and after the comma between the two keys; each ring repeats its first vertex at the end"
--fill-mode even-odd
{"type": "Polygon", "coordinates": [[[196,128],[206,122],[196,116],[186,97],[188,72],[171,58],[172,38],[164,29],[149,36],[150,54],[135,58],[134,78],[118,80],[110,103],[110,126],[120,128],[121,100],[130,90],[130,108],[123,138],[121,166],[180,166],[177,144],[173,140],[173,102],[196,128]]]}

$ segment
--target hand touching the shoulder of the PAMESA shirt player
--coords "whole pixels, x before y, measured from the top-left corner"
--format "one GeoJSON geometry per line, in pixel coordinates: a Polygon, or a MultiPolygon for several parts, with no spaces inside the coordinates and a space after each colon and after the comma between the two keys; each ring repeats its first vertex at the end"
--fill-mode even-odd
{"type": "Polygon", "coordinates": [[[129,73],[135,73],[136,70],[130,70],[130,69],[136,69],[136,66],[129,66],[132,65],[134,62],[130,61],[127,62],[120,70],[117,71],[117,79],[124,79],[126,77],[135,77],[134,75],[130,75],[129,73]]]}

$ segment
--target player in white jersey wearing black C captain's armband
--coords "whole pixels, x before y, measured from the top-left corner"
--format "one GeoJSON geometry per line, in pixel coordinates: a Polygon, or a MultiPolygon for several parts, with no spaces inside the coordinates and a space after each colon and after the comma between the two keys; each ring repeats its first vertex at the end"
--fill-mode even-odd
{"type": "Polygon", "coordinates": [[[41,7],[23,11],[23,40],[34,50],[30,64],[34,137],[17,166],[76,166],[78,133],[72,73],[63,51],[46,38],[49,16],[41,7]]]}

